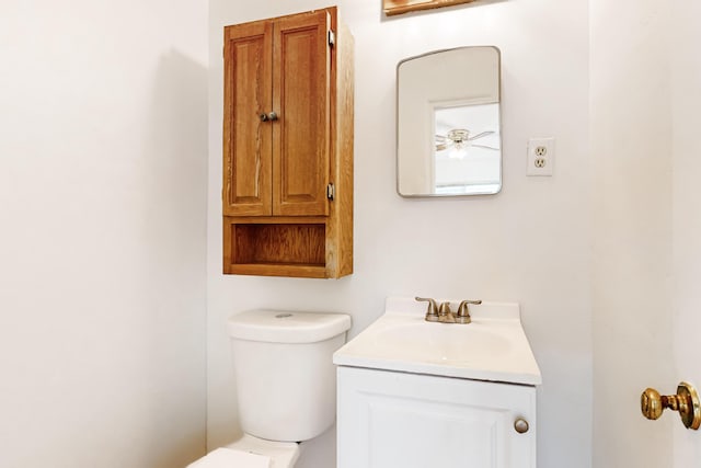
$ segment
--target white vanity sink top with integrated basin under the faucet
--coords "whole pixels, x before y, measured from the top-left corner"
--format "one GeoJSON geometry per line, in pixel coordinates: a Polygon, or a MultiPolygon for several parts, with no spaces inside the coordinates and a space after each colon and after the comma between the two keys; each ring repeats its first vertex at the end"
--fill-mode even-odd
{"type": "Polygon", "coordinates": [[[541,384],[518,304],[471,306],[472,323],[468,324],[427,322],[425,309],[413,298],[388,298],[386,313],[334,353],[334,364],[541,384]]]}

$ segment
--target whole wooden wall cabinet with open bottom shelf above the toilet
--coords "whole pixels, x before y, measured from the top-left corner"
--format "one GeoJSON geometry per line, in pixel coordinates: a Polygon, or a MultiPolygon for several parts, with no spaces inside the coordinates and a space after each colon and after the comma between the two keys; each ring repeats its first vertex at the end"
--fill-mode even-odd
{"type": "Polygon", "coordinates": [[[225,27],[223,273],[353,273],[353,48],[335,7],[225,27]]]}

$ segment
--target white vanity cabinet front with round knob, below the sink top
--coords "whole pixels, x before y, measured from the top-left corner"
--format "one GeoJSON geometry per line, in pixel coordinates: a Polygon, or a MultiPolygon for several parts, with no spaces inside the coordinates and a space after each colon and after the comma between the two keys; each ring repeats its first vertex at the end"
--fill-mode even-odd
{"type": "Polygon", "coordinates": [[[355,367],[337,376],[337,468],[536,467],[535,387],[355,367]]]}

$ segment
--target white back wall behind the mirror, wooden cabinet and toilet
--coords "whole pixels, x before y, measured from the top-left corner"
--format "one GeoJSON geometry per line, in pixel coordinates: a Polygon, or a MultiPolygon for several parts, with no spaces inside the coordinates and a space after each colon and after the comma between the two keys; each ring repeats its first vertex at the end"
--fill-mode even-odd
{"type": "MultiPolygon", "coordinates": [[[[356,39],[355,273],[338,281],[221,275],[222,26],[325,7],[210,1],[208,446],[239,435],[226,319],[255,307],[346,311],[356,334],[388,295],[515,300],[543,373],[539,467],[589,467],[591,445],[588,2],[484,1],[386,19],[379,0],[338,1],[356,39]],[[395,66],[459,45],[503,60],[504,189],[487,197],[395,193],[395,66]],[[526,178],[531,136],[556,138],[553,178],[526,178]],[[553,443],[556,441],[556,443],[553,443]]],[[[300,468],[333,465],[333,434],[300,468]]]]}

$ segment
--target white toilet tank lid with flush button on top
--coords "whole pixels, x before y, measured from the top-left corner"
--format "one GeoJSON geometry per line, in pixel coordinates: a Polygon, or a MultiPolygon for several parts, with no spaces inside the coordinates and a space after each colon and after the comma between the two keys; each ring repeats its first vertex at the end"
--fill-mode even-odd
{"type": "Polygon", "coordinates": [[[346,332],[346,313],[296,312],[256,309],[231,316],[229,336],[268,343],[315,343],[346,332]]]}

